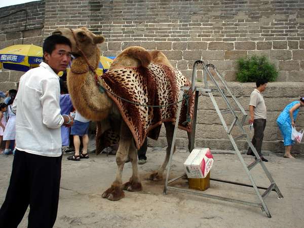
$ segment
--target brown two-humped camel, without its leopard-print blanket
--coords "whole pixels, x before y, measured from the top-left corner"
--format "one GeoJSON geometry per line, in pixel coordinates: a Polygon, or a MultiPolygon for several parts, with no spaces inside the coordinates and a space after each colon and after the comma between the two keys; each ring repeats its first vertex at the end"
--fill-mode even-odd
{"type": "MultiPolygon", "coordinates": [[[[131,72],[132,70],[137,70],[137,68],[140,68],[145,72],[140,74],[143,75],[144,78],[147,77],[145,76],[147,74],[147,71],[145,70],[148,67],[162,66],[164,69],[169,69],[170,72],[172,72],[174,67],[171,65],[166,56],[160,51],[147,51],[141,47],[130,47],[119,54],[111,64],[108,72],[112,70],[113,74],[107,74],[109,75],[107,78],[97,77],[93,71],[98,66],[100,56],[97,45],[104,42],[104,37],[102,35],[95,35],[85,27],[79,29],[58,28],[54,30],[52,34],[60,34],[67,37],[72,45],[72,54],[77,57],[73,60],[71,70],[69,70],[67,75],[68,90],[75,109],[77,109],[85,118],[97,122],[96,151],[99,151],[100,153],[101,143],[99,135],[105,133],[107,130],[111,130],[119,134],[119,148],[116,154],[116,163],[118,167],[116,179],[102,194],[102,197],[111,201],[117,201],[125,197],[123,190],[130,192],[141,191],[142,185],[137,168],[137,149],[141,146],[141,142],[146,136],[145,131],[138,130],[138,132],[134,133],[134,129],[132,130],[130,123],[126,121],[127,119],[125,114],[121,110],[123,108],[118,105],[118,102],[115,101],[115,99],[113,99],[112,94],[110,94],[108,91],[104,92],[102,88],[108,88],[105,81],[107,80],[108,83],[111,83],[113,77],[115,76],[114,73],[125,73],[127,71],[126,69],[130,70],[131,72]],[[119,71],[116,69],[122,70],[119,71]],[[136,133],[138,133],[139,136],[142,136],[139,137],[141,138],[141,141],[140,139],[138,140],[136,137],[134,137],[136,133]],[[123,184],[122,173],[125,161],[128,157],[132,163],[132,176],[128,182],[123,184]]],[[[151,77],[149,77],[150,81],[147,83],[147,85],[154,85],[154,77],[156,76],[151,75],[151,77]]],[[[173,78],[171,81],[174,80],[175,78],[173,78]]],[[[113,87],[113,90],[115,90],[115,88],[116,87],[113,87]]],[[[177,89],[179,92],[179,88],[177,89]]],[[[153,88],[148,88],[147,93],[154,93],[153,88]]],[[[156,95],[153,94],[153,96],[156,95]]],[[[132,105],[128,104],[124,107],[129,108],[130,106],[132,105]]],[[[165,107],[164,109],[167,110],[172,107],[174,106],[165,107]]],[[[151,107],[140,107],[140,109],[142,111],[146,111],[144,112],[146,115],[148,115],[147,113],[154,111],[154,109],[151,107]]],[[[131,113],[130,116],[133,115],[134,113],[131,113]]],[[[154,112],[154,115],[157,116],[157,112],[154,112]]],[[[138,121],[137,118],[138,117],[135,118],[135,122],[138,121]]],[[[143,118],[145,118],[145,115],[143,115],[143,118]]],[[[150,174],[150,180],[158,181],[162,180],[163,178],[163,173],[168,164],[170,156],[170,148],[174,132],[174,121],[174,118],[167,119],[166,121],[158,122],[151,127],[155,130],[156,126],[158,126],[158,130],[156,132],[159,133],[160,126],[162,125],[162,122],[164,123],[168,147],[166,150],[165,161],[156,172],[150,174]]],[[[147,131],[153,132],[153,130],[149,129],[147,131]]],[[[187,133],[188,140],[190,141],[189,132],[187,133]]]]}

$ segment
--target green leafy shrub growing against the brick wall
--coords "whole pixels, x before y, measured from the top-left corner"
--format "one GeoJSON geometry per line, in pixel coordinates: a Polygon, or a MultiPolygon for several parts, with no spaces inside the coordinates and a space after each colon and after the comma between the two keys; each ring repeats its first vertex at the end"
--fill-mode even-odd
{"type": "Polygon", "coordinates": [[[269,82],[276,81],[278,71],[274,64],[270,63],[265,56],[252,56],[248,59],[237,60],[239,82],[256,82],[257,79],[267,79],[269,82]]]}

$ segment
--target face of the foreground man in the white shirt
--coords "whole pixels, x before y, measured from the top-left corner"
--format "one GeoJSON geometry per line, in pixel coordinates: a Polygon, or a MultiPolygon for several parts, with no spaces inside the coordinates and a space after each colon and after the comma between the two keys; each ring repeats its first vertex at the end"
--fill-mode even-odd
{"type": "Polygon", "coordinates": [[[44,53],[45,62],[55,73],[64,71],[71,60],[71,48],[65,44],[56,44],[54,51],[49,54],[44,53]]]}

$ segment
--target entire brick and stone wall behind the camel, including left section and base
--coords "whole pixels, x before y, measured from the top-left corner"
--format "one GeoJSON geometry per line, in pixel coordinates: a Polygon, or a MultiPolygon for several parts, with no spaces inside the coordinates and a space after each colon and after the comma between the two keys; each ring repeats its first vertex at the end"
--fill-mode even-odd
{"type": "MultiPolygon", "coordinates": [[[[235,81],[236,59],[269,57],[280,75],[265,91],[269,118],[263,149],[283,151],[277,142],[281,136],[275,119],[288,102],[304,95],[302,0],[45,0],[1,8],[0,12],[5,15],[19,9],[28,10],[25,44],[41,46],[43,36],[57,27],[86,26],[106,37],[100,45],[104,56],[116,56],[134,45],[161,50],[188,78],[198,59],[213,63],[227,81],[235,81]]],[[[24,12],[20,12],[0,22],[0,48],[22,42],[24,19],[24,12]]],[[[17,71],[0,72],[0,90],[16,87],[20,75],[17,71]]],[[[199,67],[198,81],[202,77],[199,67]]],[[[254,84],[229,85],[248,110],[254,84]]],[[[200,98],[197,146],[232,149],[207,98],[200,98]]],[[[301,113],[297,126],[304,127],[301,113]]],[[[185,132],[178,133],[178,146],[186,145],[185,137],[185,132]]],[[[164,132],[158,142],[149,143],[166,145],[164,132]]],[[[239,143],[244,149],[244,141],[239,143]]],[[[302,145],[295,146],[295,151],[302,151],[302,145]]]]}

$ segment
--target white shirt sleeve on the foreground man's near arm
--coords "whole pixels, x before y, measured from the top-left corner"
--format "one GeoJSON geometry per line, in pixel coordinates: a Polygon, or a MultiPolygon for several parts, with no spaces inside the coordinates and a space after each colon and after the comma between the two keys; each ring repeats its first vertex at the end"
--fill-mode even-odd
{"type": "Polygon", "coordinates": [[[48,128],[60,128],[63,117],[60,115],[59,81],[56,78],[42,80],[42,118],[48,128]]]}

